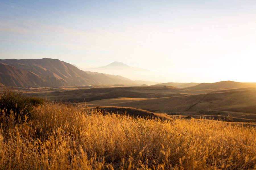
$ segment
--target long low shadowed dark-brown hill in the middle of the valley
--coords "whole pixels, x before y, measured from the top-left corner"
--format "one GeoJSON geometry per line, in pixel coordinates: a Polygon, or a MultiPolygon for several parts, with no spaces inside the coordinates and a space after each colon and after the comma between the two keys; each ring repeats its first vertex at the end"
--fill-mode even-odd
{"type": "MultiPolygon", "coordinates": [[[[102,99],[112,99],[117,97],[127,98],[156,98],[170,97],[174,95],[184,95],[186,90],[171,86],[145,86],[145,87],[113,87],[113,88],[90,88],[80,90],[57,91],[51,93],[33,93],[33,96],[47,97],[47,99],[84,102],[102,99]]],[[[30,94],[28,94],[30,95],[30,94]]]]}

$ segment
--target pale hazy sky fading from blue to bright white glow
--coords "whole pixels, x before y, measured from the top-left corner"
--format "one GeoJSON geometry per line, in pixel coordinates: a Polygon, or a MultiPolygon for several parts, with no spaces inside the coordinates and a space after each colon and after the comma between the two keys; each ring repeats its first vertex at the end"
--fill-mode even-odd
{"type": "Polygon", "coordinates": [[[0,0],[0,58],[120,61],[163,82],[256,82],[256,1],[0,0]]]}

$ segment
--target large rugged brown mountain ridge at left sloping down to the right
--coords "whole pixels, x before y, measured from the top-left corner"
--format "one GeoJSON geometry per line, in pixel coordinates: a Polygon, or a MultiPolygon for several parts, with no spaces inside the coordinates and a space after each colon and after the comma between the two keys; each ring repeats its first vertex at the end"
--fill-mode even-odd
{"type": "Polygon", "coordinates": [[[0,59],[0,82],[7,86],[80,86],[135,83],[122,76],[85,72],[59,59],[49,58],[0,59]]]}

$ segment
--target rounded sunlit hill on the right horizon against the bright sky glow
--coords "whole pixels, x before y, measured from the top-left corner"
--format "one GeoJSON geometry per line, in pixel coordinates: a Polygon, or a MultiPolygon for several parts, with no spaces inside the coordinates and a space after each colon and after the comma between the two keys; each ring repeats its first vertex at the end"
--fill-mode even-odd
{"type": "Polygon", "coordinates": [[[196,86],[188,87],[191,90],[210,90],[210,89],[223,89],[223,88],[250,88],[256,87],[256,83],[241,83],[234,81],[221,81],[216,83],[201,83],[196,86]]]}

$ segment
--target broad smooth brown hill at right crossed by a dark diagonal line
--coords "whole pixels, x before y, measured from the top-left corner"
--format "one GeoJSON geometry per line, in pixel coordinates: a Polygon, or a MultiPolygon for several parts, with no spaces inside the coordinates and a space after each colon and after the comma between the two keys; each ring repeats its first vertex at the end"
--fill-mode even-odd
{"type": "MultiPolygon", "coordinates": [[[[96,101],[94,101],[96,102],[96,101]]],[[[89,102],[90,104],[94,102],[89,102]]],[[[101,101],[104,106],[104,102],[101,101]]],[[[148,111],[170,112],[198,112],[200,110],[218,110],[231,112],[245,112],[256,114],[256,89],[160,97],[136,101],[115,103],[116,106],[135,107],[148,111]]],[[[98,103],[99,104],[99,103],[98,103]]],[[[108,103],[110,105],[111,103],[108,103]]]]}

